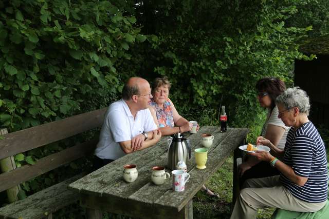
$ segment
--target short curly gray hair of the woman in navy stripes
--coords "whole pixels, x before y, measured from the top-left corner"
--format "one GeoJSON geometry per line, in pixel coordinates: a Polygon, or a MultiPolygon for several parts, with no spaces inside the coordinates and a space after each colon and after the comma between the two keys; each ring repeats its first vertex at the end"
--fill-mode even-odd
{"type": "Polygon", "coordinates": [[[287,110],[298,107],[299,112],[309,114],[310,104],[307,93],[299,87],[288,88],[276,99],[276,104],[282,104],[287,110]]]}

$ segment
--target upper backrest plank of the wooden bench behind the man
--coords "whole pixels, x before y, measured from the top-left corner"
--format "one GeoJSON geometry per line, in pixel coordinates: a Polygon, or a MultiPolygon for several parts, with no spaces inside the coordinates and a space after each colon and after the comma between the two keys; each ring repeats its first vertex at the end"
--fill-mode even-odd
{"type": "MultiPolygon", "coordinates": [[[[107,108],[86,112],[4,135],[0,140],[0,160],[102,125],[107,108]]],[[[1,181],[0,181],[1,182],[1,181]]]]}

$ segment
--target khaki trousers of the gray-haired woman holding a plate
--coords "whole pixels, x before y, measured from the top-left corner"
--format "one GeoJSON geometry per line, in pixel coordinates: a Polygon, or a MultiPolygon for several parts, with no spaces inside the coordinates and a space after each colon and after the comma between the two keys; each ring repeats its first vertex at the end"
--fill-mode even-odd
{"type": "Polygon", "coordinates": [[[289,211],[315,212],[324,207],[321,203],[308,203],[293,196],[279,182],[280,176],[247,180],[235,202],[231,219],[256,218],[260,208],[280,208],[289,211]]]}

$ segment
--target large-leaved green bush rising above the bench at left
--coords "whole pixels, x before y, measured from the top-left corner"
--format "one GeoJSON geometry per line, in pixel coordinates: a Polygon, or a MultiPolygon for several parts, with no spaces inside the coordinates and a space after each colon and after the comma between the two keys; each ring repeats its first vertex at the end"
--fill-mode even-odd
{"type": "Polygon", "coordinates": [[[10,131],[100,108],[121,91],[118,59],[145,36],[109,1],[0,4],[0,119],[10,131]],[[112,97],[112,98],[111,98],[112,97]]]}

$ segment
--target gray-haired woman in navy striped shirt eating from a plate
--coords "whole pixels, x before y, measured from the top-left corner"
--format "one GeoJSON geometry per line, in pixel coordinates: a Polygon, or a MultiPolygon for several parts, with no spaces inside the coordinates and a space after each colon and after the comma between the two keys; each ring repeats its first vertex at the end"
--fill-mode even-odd
{"type": "Polygon", "coordinates": [[[252,153],[281,172],[247,180],[236,200],[231,218],[255,218],[260,208],[274,207],[290,211],[315,212],[327,200],[327,160],[319,132],[308,120],[309,98],[298,87],[278,96],[278,117],[291,126],[284,150],[260,136],[258,144],[267,145],[281,160],[265,151],[252,153]]]}

